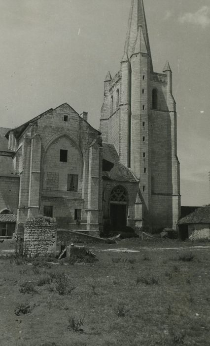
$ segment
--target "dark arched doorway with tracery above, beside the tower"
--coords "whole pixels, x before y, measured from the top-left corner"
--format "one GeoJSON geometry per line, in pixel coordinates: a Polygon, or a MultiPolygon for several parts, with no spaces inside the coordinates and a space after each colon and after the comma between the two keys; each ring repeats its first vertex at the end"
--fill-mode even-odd
{"type": "Polygon", "coordinates": [[[113,230],[121,230],[127,225],[127,191],[123,186],[116,186],[110,194],[110,219],[113,230]]]}

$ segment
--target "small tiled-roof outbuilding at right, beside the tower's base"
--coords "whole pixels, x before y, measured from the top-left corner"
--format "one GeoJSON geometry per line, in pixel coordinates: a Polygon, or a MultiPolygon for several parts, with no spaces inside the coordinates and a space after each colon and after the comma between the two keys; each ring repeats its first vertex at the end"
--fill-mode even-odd
{"type": "Polygon", "coordinates": [[[177,222],[178,234],[182,240],[210,240],[210,206],[196,209],[177,222]]]}

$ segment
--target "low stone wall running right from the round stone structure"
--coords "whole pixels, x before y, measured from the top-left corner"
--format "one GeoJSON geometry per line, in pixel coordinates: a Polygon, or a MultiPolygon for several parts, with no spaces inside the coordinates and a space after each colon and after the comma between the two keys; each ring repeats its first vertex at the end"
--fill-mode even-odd
{"type": "Polygon", "coordinates": [[[94,237],[89,234],[84,234],[82,232],[74,232],[66,229],[57,230],[57,243],[65,241],[66,244],[71,243],[84,243],[84,244],[94,244],[94,243],[105,243],[106,239],[94,237]]]}

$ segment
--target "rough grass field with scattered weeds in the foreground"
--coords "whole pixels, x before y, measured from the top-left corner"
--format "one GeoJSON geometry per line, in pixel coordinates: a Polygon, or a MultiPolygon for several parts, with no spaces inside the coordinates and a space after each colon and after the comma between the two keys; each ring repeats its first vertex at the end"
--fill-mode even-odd
{"type": "Polygon", "coordinates": [[[188,244],[91,246],[99,260],[74,265],[1,256],[0,345],[209,346],[210,248],[188,244]]]}

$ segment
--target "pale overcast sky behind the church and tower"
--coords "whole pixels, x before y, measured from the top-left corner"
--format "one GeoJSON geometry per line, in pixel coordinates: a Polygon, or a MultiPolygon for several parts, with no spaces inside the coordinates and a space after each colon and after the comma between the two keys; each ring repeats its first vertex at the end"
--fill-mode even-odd
{"type": "MultiPolygon", "coordinates": [[[[119,70],[130,0],[0,0],[0,127],[68,102],[99,128],[119,70]]],[[[210,1],[144,0],[153,65],[169,60],[182,205],[210,203],[210,1]]]]}

